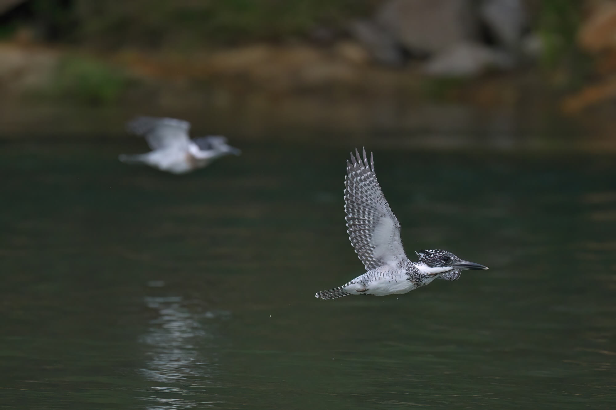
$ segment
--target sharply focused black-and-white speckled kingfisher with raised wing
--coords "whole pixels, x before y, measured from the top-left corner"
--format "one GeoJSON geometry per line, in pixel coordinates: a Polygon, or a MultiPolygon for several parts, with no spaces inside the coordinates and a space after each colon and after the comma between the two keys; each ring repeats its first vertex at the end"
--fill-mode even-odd
{"type": "Polygon", "coordinates": [[[343,286],[317,292],[316,297],[402,294],[437,278],[455,281],[464,269],[487,269],[440,250],[415,252],[418,261],[411,262],[402,247],[400,222],[376,180],[373,156],[370,154],[368,164],[365,149],[363,161],[359,151],[351,153],[344,186],[347,233],[367,272],[343,286]]]}

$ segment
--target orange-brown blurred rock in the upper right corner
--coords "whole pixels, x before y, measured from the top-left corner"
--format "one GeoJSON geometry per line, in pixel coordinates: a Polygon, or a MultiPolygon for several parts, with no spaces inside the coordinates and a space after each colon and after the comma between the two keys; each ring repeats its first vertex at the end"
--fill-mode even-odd
{"type": "Polygon", "coordinates": [[[599,2],[580,26],[578,42],[590,52],[616,46],[616,3],[599,2]]]}

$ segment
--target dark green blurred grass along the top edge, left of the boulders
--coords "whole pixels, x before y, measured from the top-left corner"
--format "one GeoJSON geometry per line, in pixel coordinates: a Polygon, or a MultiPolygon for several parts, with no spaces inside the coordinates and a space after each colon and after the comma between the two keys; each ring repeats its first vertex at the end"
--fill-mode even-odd
{"type": "Polygon", "coordinates": [[[369,15],[379,0],[75,0],[41,18],[66,27],[67,41],[104,47],[193,49],[304,36],[324,25],[334,30],[349,18],[369,15]]]}

